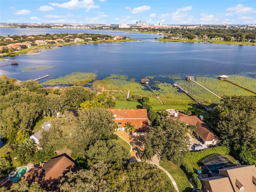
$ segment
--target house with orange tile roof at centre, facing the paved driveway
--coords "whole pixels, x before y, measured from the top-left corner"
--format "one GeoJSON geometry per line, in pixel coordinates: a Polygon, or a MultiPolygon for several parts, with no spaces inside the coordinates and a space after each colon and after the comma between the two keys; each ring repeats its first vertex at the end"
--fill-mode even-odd
{"type": "Polygon", "coordinates": [[[125,130],[126,123],[135,125],[133,135],[144,135],[149,130],[148,113],[146,109],[108,109],[113,113],[118,130],[125,130]]]}

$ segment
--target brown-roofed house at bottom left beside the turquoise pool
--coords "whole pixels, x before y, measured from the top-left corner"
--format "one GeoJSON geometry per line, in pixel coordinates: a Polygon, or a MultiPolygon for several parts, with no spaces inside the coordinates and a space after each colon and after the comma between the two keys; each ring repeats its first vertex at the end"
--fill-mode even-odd
{"type": "Polygon", "coordinates": [[[76,170],[76,164],[69,160],[66,156],[51,159],[42,168],[31,168],[20,179],[32,182],[38,182],[42,188],[47,191],[59,191],[58,184],[60,179],[67,172],[76,170]]]}

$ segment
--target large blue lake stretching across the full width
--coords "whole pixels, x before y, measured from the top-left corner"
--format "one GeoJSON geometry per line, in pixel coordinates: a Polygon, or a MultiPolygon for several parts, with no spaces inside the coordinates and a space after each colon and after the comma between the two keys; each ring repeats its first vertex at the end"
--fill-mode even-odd
{"type": "Polygon", "coordinates": [[[159,75],[184,77],[239,74],[256,78],[256,46],[157,42],[154,38],[160,38],[160,35],[112,30],[0,28],[1,36],[61,32],[122,35],[142,41],[63,46],[36,54],[20,54],[10,58],[10,61],[17,60],[20,65],[0,67],[0,74],[19,80],[50,74],[50,77],[40,82],[72,72],[96,72],[97,79],[110,74],[127,74],[129,78],[137,80],[159,75]],[[56,67],[22,72],[22,68],[36,66],[56,67]]]}

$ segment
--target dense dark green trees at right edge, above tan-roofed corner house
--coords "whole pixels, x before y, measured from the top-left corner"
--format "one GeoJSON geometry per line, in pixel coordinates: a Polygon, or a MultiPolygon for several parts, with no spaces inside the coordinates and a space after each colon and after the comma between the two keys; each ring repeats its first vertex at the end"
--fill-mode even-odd
{"type": "Polygon", "coordinates": [[[224,97],[211,121],[242,163],[256,164],[256,96],[224,97]]]}

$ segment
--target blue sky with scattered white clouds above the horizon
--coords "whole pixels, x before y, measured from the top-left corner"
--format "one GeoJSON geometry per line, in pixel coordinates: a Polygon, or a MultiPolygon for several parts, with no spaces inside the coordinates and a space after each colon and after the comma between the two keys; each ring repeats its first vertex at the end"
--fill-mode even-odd
{"type": "Polygon", "coordinates": [[[256,24],[255,0],[0,0],[0,22],[256,24]]]}

